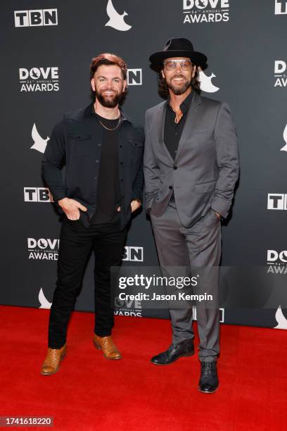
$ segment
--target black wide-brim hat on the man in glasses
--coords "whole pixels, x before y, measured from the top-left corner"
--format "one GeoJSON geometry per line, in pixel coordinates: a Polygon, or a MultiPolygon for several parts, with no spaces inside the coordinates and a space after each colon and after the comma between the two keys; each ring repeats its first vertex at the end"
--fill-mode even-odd
{"type": "Polygon", "coordinates": [[[165,58],[172,57],[188,57],[191,59],[192,63],[203,68],[207,61],[208,57],[201,52],[197,52],[193,50],[193,44],[189,39],[184,39],[184,37],[172,37],[165,42],[165,46],[163,51],[155,52],[149,58],[153,66],[159,66],[162,64],[162,61],[165,58]]]}

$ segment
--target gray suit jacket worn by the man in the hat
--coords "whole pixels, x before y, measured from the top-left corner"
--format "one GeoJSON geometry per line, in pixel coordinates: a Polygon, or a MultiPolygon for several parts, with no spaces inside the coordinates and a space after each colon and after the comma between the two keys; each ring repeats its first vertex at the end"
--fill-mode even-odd
{"type": "Polygon", "coordinates": [[[166,104],[146,111],[146,209],[162,215],[173,190],[185,227],[210,207],[226,218],[239,172],[236,128],[228,104],[194,92],[175,160],[163,142],[166,104]]]}

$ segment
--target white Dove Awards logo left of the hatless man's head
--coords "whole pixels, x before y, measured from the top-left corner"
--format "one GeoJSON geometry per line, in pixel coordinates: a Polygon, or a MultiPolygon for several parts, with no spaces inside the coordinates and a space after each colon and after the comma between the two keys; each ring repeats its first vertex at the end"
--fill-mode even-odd
{"type": "Polygon", "coordinates": [[[20,92],[58,92],[58,67],[51,68],[20,68],[20,92]]]}

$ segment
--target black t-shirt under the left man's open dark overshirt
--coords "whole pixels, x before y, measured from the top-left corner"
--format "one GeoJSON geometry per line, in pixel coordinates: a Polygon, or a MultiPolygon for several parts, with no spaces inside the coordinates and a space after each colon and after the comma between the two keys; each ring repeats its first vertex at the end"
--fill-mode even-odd
{"type": "Polygon", "coordinates": [[[91,218],[91,225],[116,223],[120,218],[117,207],[120,206],[119,182],[119,118],[108,120],[96,114],[103,127],[103,148],[98,175],[98,199],[96,212],[91,218]]]}

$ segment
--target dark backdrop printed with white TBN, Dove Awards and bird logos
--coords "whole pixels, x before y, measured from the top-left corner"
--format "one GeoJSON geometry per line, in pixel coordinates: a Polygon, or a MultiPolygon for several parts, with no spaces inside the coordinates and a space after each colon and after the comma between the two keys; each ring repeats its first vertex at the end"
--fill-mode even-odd
{"type": "MultiPolygon", "coordinates": [[[[274,280],[282,285],[287,273],[287,1],[2,1],[1,33],[1,304],[51,305],[60,223],[41,159],[63,113],[90,103],[91,58],[125,58],[124,109],[143,124],[160,101],[148,57],[170,37],[187,37],[208,56],[203,96],[229,102],[238,130],[241,177],[222,226],[222,265],[237,268],[238,299],[241,289],[255,299],[266,294],[260,306],[222,308],[222,322],[287,329],[286,304],[272,296],[274,280]],[[265,267],[266,277],[248,277],[251,267],[265,267]]],[[[158,265],[144,211],[132,220],[123,264],[158,265]]],[[[91,256],[76,309],[92,311],[93,295],[91,256]]],[[[115,313],[168,317],[140,301],[118,301],[115,313]]]]}

